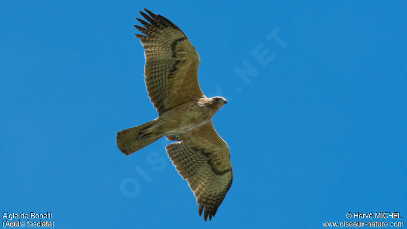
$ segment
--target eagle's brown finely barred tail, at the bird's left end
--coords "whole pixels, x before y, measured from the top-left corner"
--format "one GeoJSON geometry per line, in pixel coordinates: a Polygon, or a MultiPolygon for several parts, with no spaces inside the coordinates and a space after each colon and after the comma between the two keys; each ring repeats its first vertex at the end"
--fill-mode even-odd
{"type": "Polygon", "coordinates": [[[144,123],[143,125],[119,131],[116,136],[116,144],[122,153],[129,155],[151,144],[163,135],[151,132],[150,127],[158,122],[158,119],[144,123]]]}

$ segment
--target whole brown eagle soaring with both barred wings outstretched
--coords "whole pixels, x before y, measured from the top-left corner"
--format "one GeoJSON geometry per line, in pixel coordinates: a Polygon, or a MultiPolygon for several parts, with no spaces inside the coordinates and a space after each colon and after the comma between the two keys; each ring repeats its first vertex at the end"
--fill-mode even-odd
{"type": "Polygon", "coordinates": [[[119,131],[117,146],[129,155],[166,136],[177,141],[165,147],[168,157],[187,180],[206,221],[215,216],[232,183],[229,148],[217,134],[212,117],[226,100],[207,98],[198,83],[199,56],[185,34],[165,17],[147,9],[134,27],[144,49],[144,76],[158,118],[119,131]]]}

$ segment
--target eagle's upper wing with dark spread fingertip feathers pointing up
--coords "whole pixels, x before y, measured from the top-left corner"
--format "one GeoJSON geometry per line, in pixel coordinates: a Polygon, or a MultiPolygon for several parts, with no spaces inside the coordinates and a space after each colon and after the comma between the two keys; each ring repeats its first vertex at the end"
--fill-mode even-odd
{"type": "Polygon", "coordinates": [[[199,56],[185,34],[165,17],[144,9],[146,35],[136,34],[143,45],[147,92],[159,115],[164,111],[203,96],[198,83],[199,56]]]}

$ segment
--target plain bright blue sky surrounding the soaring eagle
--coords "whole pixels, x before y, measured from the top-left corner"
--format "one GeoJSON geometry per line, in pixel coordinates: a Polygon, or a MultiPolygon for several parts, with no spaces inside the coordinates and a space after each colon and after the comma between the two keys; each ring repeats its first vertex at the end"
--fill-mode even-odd
{"type": "Polygon", "coordinates": [[[405,12],[404,1],[2,1],[0,211],[52,212],[56,228],[407,218],[405,12]],[[234,180],[211,222],[164,138],[127,157],[115,146],[117,131],[157,116],[133,35],[142,8],[181,28],[202,91],[228,100],[213,122],[234,180]]]}

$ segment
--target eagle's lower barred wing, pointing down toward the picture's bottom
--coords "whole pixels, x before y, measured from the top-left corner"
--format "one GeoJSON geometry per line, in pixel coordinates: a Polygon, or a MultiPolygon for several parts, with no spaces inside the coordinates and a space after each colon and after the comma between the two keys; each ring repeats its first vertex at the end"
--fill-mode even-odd
{"type": "Polygon", "coordinates": [[[211,220],[232,183],[229,148],[212,121],[179,138],[165,148],[168,157],[194,192],[199,216],[205,208],[203,219],[211,220]]]}

